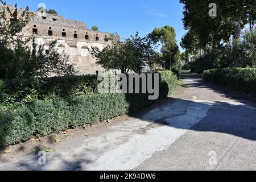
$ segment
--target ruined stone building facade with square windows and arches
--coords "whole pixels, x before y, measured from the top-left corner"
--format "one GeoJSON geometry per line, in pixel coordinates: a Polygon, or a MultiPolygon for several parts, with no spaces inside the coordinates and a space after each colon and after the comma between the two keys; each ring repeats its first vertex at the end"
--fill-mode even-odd
{"type": "Polygon", "coordinates": [[[90,55],[89,49],[98,47],[102,50],[120,39],[119,36],[114,36],[113,40],[109,40],[111,34],[90,30],[84,22],[39,12],[34,13],[33,19],[23,28],[22,34],[34,35],[36,44],[44,45],[46,52],[49,42],[57,40],[58,51],[69,56],[69,64],[73,64],[79,75],[104,72],[105,69],[96,64],[96,59],[90,55]]]}

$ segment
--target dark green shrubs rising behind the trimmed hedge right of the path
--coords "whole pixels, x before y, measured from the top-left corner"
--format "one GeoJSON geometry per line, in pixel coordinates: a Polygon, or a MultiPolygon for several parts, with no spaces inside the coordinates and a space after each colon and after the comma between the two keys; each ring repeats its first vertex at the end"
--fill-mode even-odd
{"type": "Polygon", "coordinates": [[[212,49],[191,63],[191,71],[202,73],[204,70],[228,67],[252,67],[256,65],[256,32],[251,31],[233,44],[225,44],[212,49]]]}

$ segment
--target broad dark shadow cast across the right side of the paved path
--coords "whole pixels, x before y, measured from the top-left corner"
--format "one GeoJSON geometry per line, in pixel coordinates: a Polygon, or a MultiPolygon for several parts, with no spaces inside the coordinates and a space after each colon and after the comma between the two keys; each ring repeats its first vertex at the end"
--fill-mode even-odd
{"type": "MultiPolygon", "coordinates": [[[[256,102],[254,102],[254,98],[238,94],[224,86],[201,81],[201,75],[188,74],[182,75],[181,78],[187,80],[181,86],[211,90],[221,96],[220,101],[207,99],[207,97],[211,97],[210,93],[208,93],[209,96],[204,96],[207,101],[171,98],[167,105],[158,106],[158,108],[138,118],[158,125],[159,123],[161,125],[168,123],[168,126],[177,129],[226,133],[256,140],[256,102]],[[221,98],[230,98],[231,100],[221,101],[221,98]],[[208,109],[205,110],[205,108],[208,109]],[[202,114],[204,111],[206,112],[205,115],[202,114]],[[201,118],[200,115],[202,115],[201,118]],[[193,120],[198,120],[198,118],[200,118],[200,122],[191,127],[195,124],[193,120]]],[[[133,115],[133,117],[136,116],[133,115]]]]}

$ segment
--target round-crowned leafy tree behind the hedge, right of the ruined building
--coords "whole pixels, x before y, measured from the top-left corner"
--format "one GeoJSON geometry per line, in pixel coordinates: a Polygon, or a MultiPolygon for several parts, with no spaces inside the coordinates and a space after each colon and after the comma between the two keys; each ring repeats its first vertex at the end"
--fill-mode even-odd
{"type": "Polygon", "coordinates": [[[102,51],[92,47],[91,54],[103,68],[119,69],[121,73],[127,74],[129,71],[140,69],[143,65],[154,63],[156,52],[153,45],[150,35],[141,38],[137,32],[124,42],[105,47],[102,51]]]}

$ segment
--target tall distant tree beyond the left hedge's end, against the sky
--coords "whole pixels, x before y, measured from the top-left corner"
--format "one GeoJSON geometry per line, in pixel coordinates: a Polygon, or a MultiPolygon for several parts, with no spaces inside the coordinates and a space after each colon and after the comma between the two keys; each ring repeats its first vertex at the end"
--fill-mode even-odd
{"type": "Polygon", "coordinates": [[[151,35],[155,42],[162,43],[162,58],[166,63],[166,69],[170,69],[176,64],[177,54],[179,54],[174,28],[170,26],[155,28],[151,35]]]}

